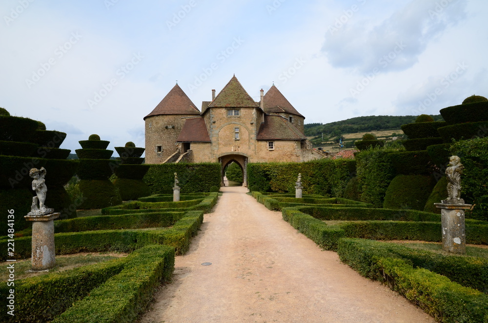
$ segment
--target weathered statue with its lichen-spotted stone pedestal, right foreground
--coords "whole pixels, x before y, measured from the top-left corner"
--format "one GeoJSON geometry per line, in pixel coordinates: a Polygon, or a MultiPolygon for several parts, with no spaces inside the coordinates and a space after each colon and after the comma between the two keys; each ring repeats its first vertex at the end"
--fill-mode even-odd
{"type": "Polygon", "coordinates": [[[434,203],[441,209],[442,249],[458,254],[466,253],[464,210],[471,208],[471,204],[465,204],[461,199],[463,169],[464,166],[458,156],[449,158],[449,165],[446,169],[448,197],[441,203],[434,203]]]}

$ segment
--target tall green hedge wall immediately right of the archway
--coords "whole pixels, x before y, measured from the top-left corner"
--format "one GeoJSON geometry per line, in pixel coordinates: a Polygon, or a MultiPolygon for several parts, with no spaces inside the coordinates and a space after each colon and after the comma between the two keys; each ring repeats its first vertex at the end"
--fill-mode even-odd
{"type": "Polygon", "coordinates": [[[295,192],[301,173],[305,194],[342,197],[355,172],[355,160],[249,163],[247,183],[253,191],[295,192]]]}

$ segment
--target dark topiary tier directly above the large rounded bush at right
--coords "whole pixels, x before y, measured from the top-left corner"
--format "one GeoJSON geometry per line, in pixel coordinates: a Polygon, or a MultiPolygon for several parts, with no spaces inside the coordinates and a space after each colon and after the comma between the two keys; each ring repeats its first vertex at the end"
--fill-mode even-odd
{"type": "Polygon", "coordinates": [[[395,152],[390,153],[388,156],[397,174],[429,174],[428,163],[430,159],[425,150],[395,152]]]}

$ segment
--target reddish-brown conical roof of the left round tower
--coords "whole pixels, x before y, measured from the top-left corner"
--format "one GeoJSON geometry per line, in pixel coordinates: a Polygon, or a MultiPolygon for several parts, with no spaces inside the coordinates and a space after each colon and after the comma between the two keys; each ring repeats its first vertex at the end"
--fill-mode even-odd
{"type": "Polygon", "coordinates": [[[150,114],[144,117],[158,116],[163,114],[195,114],[199,115],[200,111],[196,105],[186,96],[181,87],[176,84],[171,91],[163,98],[161,102],[152,110],[150,114]]]}

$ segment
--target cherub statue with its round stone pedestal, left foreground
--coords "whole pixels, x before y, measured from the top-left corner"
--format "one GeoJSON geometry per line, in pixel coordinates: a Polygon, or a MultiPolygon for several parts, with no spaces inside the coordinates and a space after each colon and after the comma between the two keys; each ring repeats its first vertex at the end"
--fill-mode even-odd
{"type": "Polygon", "coordinates": [[[47,186],[44,177],[46,170],[32,168],[29,176],[33,178],[32,189],[36,196],[32,198],[31,211],[24,217],[32,221],[32,270],[44,270],[56,265],[54,248],[54,219],[60,213],[53,213],[54,209],[44,204],[47,195],[47,186]],[[39,205],[38,205],[39,202],[39,205]]]}

